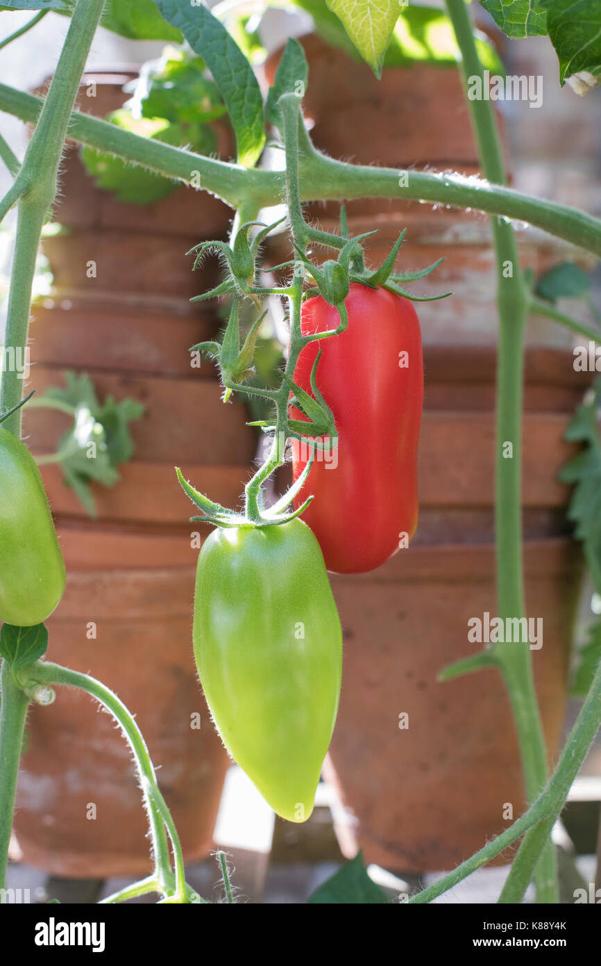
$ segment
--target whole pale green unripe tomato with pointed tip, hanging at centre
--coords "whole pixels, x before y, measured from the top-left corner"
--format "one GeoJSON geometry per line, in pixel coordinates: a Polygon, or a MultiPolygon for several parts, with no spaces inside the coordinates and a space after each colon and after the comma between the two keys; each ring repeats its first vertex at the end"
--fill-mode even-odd
{"type": "Polygon", "coordinates": [[[194,653],[232,757],[283,818],[314,808],[341,690],[341,621],[300,520],[214,530],[201,550],[194,653]]]}

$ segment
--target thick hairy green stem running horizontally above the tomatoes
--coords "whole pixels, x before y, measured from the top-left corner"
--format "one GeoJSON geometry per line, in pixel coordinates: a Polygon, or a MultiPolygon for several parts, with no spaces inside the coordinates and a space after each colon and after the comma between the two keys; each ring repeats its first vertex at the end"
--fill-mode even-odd
{"type": "MultiPolygon", "coordinates": [[[[14,114],[22,121],[34,123],[42,103],[41,98],[0,84],[0,110],[14,114]]],[[[176,178],[186,184],[193,178],[200,178],[206,191],[234,209],[251,196],[259,208],[279,204],[285,198],[282,172],[248,170],[238,164],[196,155],[76,111],[72,114],[68,133],[82,144],[136,161],[167,178],[176,178]]],[[[397,168],[347,164],[313,150],[305,156],[300,168],[301,201],[401,198],[471,208],[528,222],[601,256],[601,221],[590,214],[530,197],[504,185],[489,185],[477,178],[408,171],[405,172],[407,178],[402,179],[400,185],[400,174],[397,168]]]]}

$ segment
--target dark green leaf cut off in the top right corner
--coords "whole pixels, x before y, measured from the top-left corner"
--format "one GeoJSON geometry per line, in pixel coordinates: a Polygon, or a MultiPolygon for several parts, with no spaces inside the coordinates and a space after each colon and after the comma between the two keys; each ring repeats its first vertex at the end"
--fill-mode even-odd
{"type": "Polygon", "coordinates": [[[547,30],[560,60],[560,83],[587,71],[601,71],[601,4],[599,0],[541,0],[547,30]]]}

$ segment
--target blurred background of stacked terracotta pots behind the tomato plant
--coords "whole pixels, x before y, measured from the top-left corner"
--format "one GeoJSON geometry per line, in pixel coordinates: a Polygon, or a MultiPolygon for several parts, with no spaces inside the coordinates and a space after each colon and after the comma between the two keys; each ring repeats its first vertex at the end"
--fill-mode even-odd
{"type": "MultiPolygon", "coordinates": [[[[580,98],[560,88],[548,39],[508,43],[479,8],[477,16],[488,36],[491,72],[501,58],[507,73],[542,78],[539,107],[527,100],[496,105],[511,184],[598,215],[599,94],[580,98]]],[[[27,19],[3,14],[0,39],[27,19]]],[[[476,174],[458,73],[436,53],[424,24],[399,41],[397,63],[380,82],[331,35],[314,32],[306,11],[251,12],[232,31],[246,37],[265,89],[282,44],[290,36],[302,39],[310,68],[305,112],[319,149],[399,169],[476,174]]],[[[0,82],[40,93],[67,26],[48,14],[3,50],[0,82]]],[[[171,143],[192,143],[205,154],[231,156],[232,133],[210,82],[191,73],[176,48],[164,48],[100,28],[79,109],[148,136],[174,138],[171,143]],[[158,111],[178,82],[188,94],[177,104],[168,95],[160,123],[149,107],[146,128],[134,128],[145,124],[137,116],[140,101],[154,99],[158,111]],[[138,108],[123,111],[132,95],[138,108]]],[[[26,126],[2,114],[0,129],[22,157],[26,126]]],[[[266,152],[264,163],[281,164],[281,154],[266,152]]],[[[9,184],[2,167],[0,190],[9,184]]],[[[331,228],[338,207],[310,205],[308,215],[331,228]]],[[[215,844],[232,856],[240,900],[304,902],[359,848],[371,877],[394,897],[431,882],[500,832],[507,804],[513,817],[524,806],[510,712],[496,674],[436,683],[441,668],[469,652],[469,617],[495,610],[497,316],[488,223],[478,213],[373,199],[349,203],[348,216],[353,234],[379,229],[368,240],[374,263],[406,226],[399,264],[420,269],[446,258],[415,291],[451,289],[454,295],[419,306],[426,388],[421,521],[411,554],[397,554],[368,575],[332,579],[344,633],[341,712],[314,815],[302,826],[275,819],[231,766],[212,729],[190,644],[194,565],[206,532],[188,523],[189,503],[173,467],[201,491],[235,505],[260,448],[246,425],[244,402],[223,406],[212,364],[189,364],[188,348],[214,337],[222,308],[190,304],[217,283],[219,265],[207,259],[192,272],[186,252],[199,241],[226,238],[232,213],[202,192],[110,156],[82,155],[71,145],[44,233],[29,384],[47,405],[29,410],[24,425],[68,565],[65,599],[48,623],[51,654],[94,673],[136,713],[160,766],[190,863],[188,879],[207,897],[217,895],[211,894],[217,867],[207,858],[215,844]],[[65,405],[53,409],[53,400],[67,404],[72,418],[65,405]],[[82,440],[98,426],[105,455],[91,472],[82,461],[82,440]],[[406,729],[399,724],[404,714],[406,729]]],[[[554,298],[560,309],[590,321],[599,311],[593,260],[527,225],[516,230],[521,258],[537,279],[557,266],[573,267],[579,298],[554,298]]],[[[5,294],[13,235],[14,213],[0,234],[5,294]]],[[[277,236],[266,247],[265,270],[288,254],[286,236],[277,236]]],[[[263,379],[279,364],[278,334],[282,318],[274,306],[261,329],[263,379]]],[[[574,370],[579,342],[548,320],[529,322],[527,601],[529,614],[544,620],[544,646],[533,651],[533,661],[552,757],[580,706],[574,682],[591,598],[596,608],[566,514],[570,491],[558,481],[576,452],[564,440],[566,427],[592,382],[590,373],[574,370]]],[[[586,882],[594,876],[600,768],[596,747],[556,830],[566,901],[579,876],[586,882]]],[[[9,885],[31,888],[38,900],[96,901],[148,867],[129,753],[110,719],[85,697],[62,695],[51,708],[32,711],[12,855],[9,885]]],[[[495,901],[503,859],[443,900],[495,901]]]]}

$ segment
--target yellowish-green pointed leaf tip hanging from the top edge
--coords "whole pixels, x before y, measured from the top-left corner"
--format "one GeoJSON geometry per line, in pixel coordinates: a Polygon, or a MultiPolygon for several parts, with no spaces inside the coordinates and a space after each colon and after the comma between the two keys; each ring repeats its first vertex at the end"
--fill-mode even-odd
{"type": "Polygon", "coordinates": [[[379,76],[401,12],[399,0],[326,0],[369,67],[379,76]]]}

